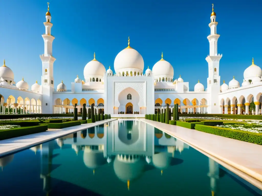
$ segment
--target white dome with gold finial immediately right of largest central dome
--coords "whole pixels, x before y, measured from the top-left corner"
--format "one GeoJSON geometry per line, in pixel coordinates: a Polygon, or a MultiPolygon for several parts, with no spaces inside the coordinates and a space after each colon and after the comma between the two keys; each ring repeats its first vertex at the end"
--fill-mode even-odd
{"type": "MultiPolygon", "coordinates": [[[[174,68],[173,66],[166,60],[163,59],[163,53],[162,58],[156,62],[156,64],[152,68],[152,73],[154,74],[155,78],[170,78],[173,79],[174,77],[174,68]]],[[[159,81],[160,82],[160,81],[159,81]]]]}

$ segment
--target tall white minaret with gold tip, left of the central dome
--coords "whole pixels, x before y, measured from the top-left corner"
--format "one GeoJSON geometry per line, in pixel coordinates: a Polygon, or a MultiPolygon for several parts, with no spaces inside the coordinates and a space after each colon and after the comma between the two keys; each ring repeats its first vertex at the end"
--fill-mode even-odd
{"type": "Polygon", "coordinates": [[[53,64],[56,60],[52,56],[52,44],[54,37],[51,35],[51,14],[49,12],[49,3],[47,3],[46,22],[44,22],[46,33],[42,35],[45,43],[44,54],[40,55],[42,60],[42,113],[53,113],[53,91],[54,91],[54,78],[53,78],[53,64]]]}

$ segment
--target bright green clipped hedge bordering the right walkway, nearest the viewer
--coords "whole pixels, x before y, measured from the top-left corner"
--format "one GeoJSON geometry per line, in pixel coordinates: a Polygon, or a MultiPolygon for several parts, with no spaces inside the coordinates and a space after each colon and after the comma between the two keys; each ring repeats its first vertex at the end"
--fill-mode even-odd
{"type": "Polygon", "coordinates": [[[195,130],[262,145],[262,134],[259,133],[252,133],[248,131],[234,130],[217,126],[206,126],[201,124],[196,124],[195,130]]]}

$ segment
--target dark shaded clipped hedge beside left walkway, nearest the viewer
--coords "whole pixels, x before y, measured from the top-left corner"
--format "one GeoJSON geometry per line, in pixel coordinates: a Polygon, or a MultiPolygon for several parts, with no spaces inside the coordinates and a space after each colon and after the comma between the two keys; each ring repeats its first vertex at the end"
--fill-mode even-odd
{"type": "Polygon", "coordinates": [[[30,135],[34,133],[40,133],[46,131],[48,125],[37,125],[37,126],[27,126],[8,130],[0,130],[0,140],[6,140],[13,137],[19,137],[24,135],[30,135]]]}

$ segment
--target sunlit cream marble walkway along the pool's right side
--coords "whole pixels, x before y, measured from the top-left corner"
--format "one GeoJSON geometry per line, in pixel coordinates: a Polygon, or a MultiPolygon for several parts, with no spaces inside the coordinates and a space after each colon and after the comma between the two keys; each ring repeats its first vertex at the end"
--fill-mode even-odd
{"type": "Polygon", "coordinates": [[[140,119],[262,182],[262,146],[181,126],[140,119]]]}

